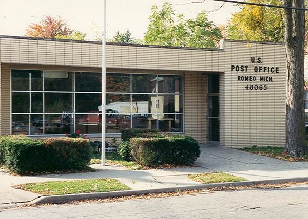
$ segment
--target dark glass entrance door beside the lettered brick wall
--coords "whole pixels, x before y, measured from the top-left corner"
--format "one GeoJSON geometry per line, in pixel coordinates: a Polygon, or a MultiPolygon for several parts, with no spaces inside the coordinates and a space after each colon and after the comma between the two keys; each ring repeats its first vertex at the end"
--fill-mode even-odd
{"type": "Polygon", "coordinates": [[[208,74],[208,141],[219,141],[219,74],[208,74]]]}

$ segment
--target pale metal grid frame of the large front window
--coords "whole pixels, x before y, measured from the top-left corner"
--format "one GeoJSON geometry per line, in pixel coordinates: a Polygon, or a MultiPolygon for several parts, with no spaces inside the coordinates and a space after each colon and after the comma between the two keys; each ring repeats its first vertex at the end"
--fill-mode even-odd
{"type": "MultiPolygon", "coordinates": [[[[25,115],[29,115],[29,127],[28,127],[28,135],[27,136],[65,136],[65,134],[45,134],[45,114],[61,114],[61,113],[56,113],[56,112],[48,112],[46,113],[45,112],[45,93],[71,93],[72,94],[72,98],[73,98],[73,103],[72,103],[72,107],[73,107],[73,113],[72,113],[72,116],[74,118],[74,121],[73,121],[73,131],[76,132],[76,116],[75,115],[81,115],[81,114],[98,114],[97,112],[79,112],[79,113],[76,113],[75,109],[76,109],[76,99],[75,99],[75,94],[76,93],[93,93],[93,94],[102,94],[102,92],[85,92],[85,91],[75,91],[75,73],[76,72],[88,72],[88,73],[100,73],[101,72],[98,72],[98,71],[68,71],[68,70],[51,70],[51,69],[44,69],[44,70],[39,70],[39,69],[21,69],[21,68],[12,68],[10,69],[10,134],[12,134],[12,115],[14,114],[25,114],[25,115]],[[25,90],[21,90],[21,91],[18,91],[18,90],[12,90],[12,70],[29,70],[29,71],[42,71],[42,80],[43,80],[43,89],[42,91],[32,91],[31,90],[31,73],[29,73],[29,91],[25,91],[25,90]],[[73,87],[72,87],[72,91],[45,91],[45,71],[57,71],[57,72],[60,72],[60,71],[63,71],[63,72],[71,72],[73,74],[73,87]],[[30,109],[29,109],[29,113],[12,113],[12,93],[13,92],[26,92],[26,93],[29,93],[29,101],[30,101],[30,109]],[[43,93],[43,112],[31,112],[32,110],[32,107],[31,107],[31,93],[43,93]],[[35,135],[35,134],[31,134],[31,115],[43,115],[43,134],[38,134],[38,135],[35,135]]],[[[184,74],[163,74],[163,73],[157,73],[157,74],[152,74],[152,73],[145,73],[145,72],[142,72],[142,73],[131,73],[131,72],[107,72],[107,74],[129,74],[130,75],[130,92],[106,92],[106,94],[129,94],[130,95],[130,112],[129,113],[108,113],[108,114],[118,114],[118,115],[129,115],[130,116],[130,128],[132,128],[132,115],[138,115],[138,114],[145,114],[145,112],[141,112],[141,113],[136,113],[136,112],[133,112],[132,111],[132,95],[134,94],[137,94],[137,95],[142,95],[142,94],[147,94],[147,95],[156,95],[157,97],[157,100],[158,100],[158,97],[159,95],[180,95],[180,98],[181,98],[181,103],[182,103],[182,112],[174,112],[174,113],[160,113],[158,112],[158,108],[157,108],[157,112],[151,112],[151,113],[147,113],[147,114],[152,114],[152,115],[157,115],[159,116],[160,114],[180,114],[182,115],[182,131],[181,132],[165,132],[165,133],[172,133],[172,134],[183,134],[185,133],[185,125],[184,125],[184,121],[185,121],[185,118],[184,118],[184,112],[185,112],[185,104],[184,104],[184,74]],[[159,75],[162,76],[162,75],[166,75],[166,76],[179,76],[181,77],[181,84],[180,84],[180,90],[182,91],[181,93],[159,93],[158,92],[158,82],[156,83],[156,93],[137,93],[137,92],[134,92],[132,93],[132,75],[135,75],[135,74],[141,74],[141,75],[155,75],[157,80],[158,80],[158,77],[159,75]]],[[[103,113],[101,113],[103,114],[103,113]]],[[[105,113],[105,116],[106,116],[106,113],[105,113]]],[[[157,129],[159,129],[159,120],[157,120],[157,129]]],[[[98,136],[98,135],[101,135],[101,133],[85,133],[86,135],[88,136],[98,136]]],[[[106,136],[115,136],[115,135],[121,135],[121,132],[119,133],[106,133],[106,136]]]]}

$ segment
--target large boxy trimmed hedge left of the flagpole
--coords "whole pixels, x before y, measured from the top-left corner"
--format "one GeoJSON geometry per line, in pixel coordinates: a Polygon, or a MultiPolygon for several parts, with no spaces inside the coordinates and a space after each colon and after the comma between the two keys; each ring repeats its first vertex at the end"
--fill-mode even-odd
{"type": "Polygon", "coordinates": [[[81,170],[91,159],[88,139],[11,136],[1,139],[6,167],[19,174],[81,170]]]}

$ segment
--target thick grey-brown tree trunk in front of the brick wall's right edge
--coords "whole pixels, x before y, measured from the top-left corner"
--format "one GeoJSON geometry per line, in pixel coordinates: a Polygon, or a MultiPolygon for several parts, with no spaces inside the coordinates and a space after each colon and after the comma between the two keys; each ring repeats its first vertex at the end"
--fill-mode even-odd
{"type": "MultiPolygon", "coordinates": [[[[304,0],[283,0],[284,6],[304,8],[304,0]]],[[[304,121],[305,13],[284,9],[286,43],[286,145],[295,157],[307,152],[304,121]]]]}

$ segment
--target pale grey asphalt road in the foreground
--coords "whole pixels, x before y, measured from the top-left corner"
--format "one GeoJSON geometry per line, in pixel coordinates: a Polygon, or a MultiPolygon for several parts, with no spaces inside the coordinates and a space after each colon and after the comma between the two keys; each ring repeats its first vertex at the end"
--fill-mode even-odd
{"type": "Polygon", "coordinates": [[[0,218],[308,218],[308,185],[8,209],[0,218]]]}

